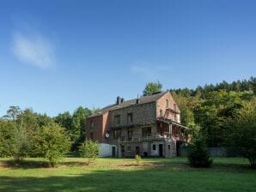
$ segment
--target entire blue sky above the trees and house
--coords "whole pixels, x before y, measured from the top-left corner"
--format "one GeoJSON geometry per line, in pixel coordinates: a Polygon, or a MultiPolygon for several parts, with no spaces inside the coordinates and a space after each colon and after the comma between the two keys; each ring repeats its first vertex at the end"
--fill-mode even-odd
{"type": "Polygon", "coordinates": [[[2,0],[0,115],[256,75],[256,1],[2,0]]]}

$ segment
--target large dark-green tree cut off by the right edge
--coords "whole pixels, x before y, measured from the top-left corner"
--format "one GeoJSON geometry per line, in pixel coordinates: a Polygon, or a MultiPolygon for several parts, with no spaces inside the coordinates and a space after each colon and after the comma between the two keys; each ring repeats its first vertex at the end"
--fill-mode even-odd
{"type": "Polygon", "coordinates": [[[228,147],[248,159],[250,165],[256,168],[256,98],[236,111],[235,119],[230,119],[227,126],[228,147]]]}

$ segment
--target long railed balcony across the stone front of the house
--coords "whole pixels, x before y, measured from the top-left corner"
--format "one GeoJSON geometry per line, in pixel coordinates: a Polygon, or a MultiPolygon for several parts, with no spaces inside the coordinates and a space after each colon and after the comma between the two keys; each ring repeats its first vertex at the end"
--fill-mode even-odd
{"type": "Polygon", "coordinates": [[[158,133],[152,133],[148,135],[132,135],[132,136],[120,136],[119,142],[137,142],[137,141],[155,141],[155,140],[166,140],[169,134],[160,135],[158,133]]]}

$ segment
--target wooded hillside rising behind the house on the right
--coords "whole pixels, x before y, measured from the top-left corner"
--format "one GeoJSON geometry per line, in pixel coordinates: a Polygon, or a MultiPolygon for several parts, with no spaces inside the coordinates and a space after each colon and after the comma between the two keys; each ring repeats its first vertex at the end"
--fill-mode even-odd
{"type": "Polygon", "coordinates": [[[237,121],[237,114],[244,113],[245,106],[255,105],[256,78],[172,89],[171,93],[180,107],[181,123],[204,135],[208,147],[220,147],[225,144],[228,128],[237,121]]]}

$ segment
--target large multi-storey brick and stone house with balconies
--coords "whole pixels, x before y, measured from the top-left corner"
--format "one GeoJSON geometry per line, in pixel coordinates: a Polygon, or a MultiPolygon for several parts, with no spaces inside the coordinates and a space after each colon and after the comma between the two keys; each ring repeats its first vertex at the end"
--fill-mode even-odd
{"type": "Polygon", "coordinates": [[[174,157],[190,135],[171,93],[165,92],[127,101],[118,97],[87,118],[86,138],[100,143],[101,157],[174,157]]]}

